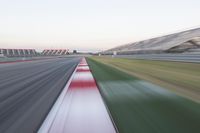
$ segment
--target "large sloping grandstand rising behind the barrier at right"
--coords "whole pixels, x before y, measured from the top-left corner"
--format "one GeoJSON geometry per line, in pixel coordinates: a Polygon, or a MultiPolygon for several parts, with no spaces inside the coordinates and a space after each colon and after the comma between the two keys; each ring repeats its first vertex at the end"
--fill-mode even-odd
{"type": "Polygon", "coordinates": [[[182,53],[200,51],[200,28],[121,45],[101,54],[182,53]]]}

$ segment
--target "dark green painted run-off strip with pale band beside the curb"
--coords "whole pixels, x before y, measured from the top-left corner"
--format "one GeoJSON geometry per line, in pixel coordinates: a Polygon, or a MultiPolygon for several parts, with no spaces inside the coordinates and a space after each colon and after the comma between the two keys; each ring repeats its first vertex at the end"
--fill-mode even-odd
{"type": "Polygon", "coordinates": [[[120,133],[200,133],[200,104],[88,59],[120,133]]]}

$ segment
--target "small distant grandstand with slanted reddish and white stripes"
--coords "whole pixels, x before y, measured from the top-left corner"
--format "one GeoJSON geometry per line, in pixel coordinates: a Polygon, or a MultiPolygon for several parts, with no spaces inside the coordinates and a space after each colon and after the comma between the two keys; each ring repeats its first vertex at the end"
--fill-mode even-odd
{"type": "Polygon", "coordinates": [[[44,56],[68,55],[69,49],[45,49],[41,54],[44,56]]]}

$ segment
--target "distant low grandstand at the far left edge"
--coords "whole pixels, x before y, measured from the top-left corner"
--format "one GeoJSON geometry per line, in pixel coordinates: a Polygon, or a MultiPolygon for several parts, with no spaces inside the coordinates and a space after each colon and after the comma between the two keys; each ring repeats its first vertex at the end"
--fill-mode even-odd
{"type": "Polygon", "coordinates": [[[37,56],[35,49],[0,49],[1,57],[32,57],[37,56]]]}

